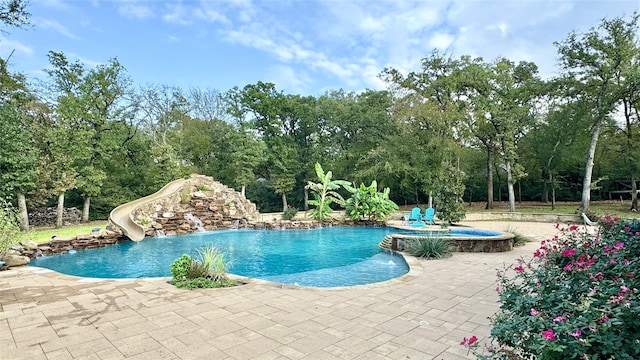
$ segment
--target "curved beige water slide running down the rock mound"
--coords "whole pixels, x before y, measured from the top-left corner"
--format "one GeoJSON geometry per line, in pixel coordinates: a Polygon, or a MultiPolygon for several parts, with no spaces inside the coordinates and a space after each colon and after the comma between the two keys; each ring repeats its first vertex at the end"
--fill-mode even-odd
{"type": "Polygon", "coordinates": [[[143,198],[118,206],[117,208],[111,210],[109,221],[113,225],[119,227],[129,239],[133,241],[141,241],[142,239],[144,239],[144,227],[133,221],[133,210],[135,210],[140,205],[153,202],[155,200],[175,193],[176,191],[180,190],[180,188],[182,188],[184,184],[187,183],[187,181],[188,180],[186,179],[174,180],[165,185],[162,189],[149,196],[145,196],[143,198]]]}

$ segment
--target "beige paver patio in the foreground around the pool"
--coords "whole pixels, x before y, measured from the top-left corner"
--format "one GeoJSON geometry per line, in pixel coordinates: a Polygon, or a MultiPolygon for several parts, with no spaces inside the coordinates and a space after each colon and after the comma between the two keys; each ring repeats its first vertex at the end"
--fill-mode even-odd
{"type": "Polygon", "coordinates": [[[466,224],[536,241],[507,253],[418,261],[400,279],[333,289],[251,283],[188,291],[165,279],[3,271],[0,359],[472,359],[459,343],[488,336],[496,269],[530,256],[557,230],[466,224]]]}

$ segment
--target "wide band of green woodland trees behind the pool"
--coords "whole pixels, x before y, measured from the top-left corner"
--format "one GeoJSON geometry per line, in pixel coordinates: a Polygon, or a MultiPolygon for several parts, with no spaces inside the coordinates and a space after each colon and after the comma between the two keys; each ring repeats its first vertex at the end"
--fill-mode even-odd
{"type": "MultiPolygon", "coordinates": [[[[0,21],[26,26],[25,5],[0,2],[0,21]]],[[[586,211],[592,198],[623,196],[637,209],[637,22],[605,19],[568,34],[557,43],[562,73],[551,79],[531,62],[433,51],[414,71],[381,70],[386,90],[318,96],[268,82],[139,86],[116,58],[88,66],[54,51],[47,81],[33,86],[0,59],[0,193],[25,213],[62,206],[66,194],[85,219],[105,218],[198,172],[246,189],[261,211],[307,209],[322,164],[335,178],[372,184],[332,189],[336,199],[350,189],[428,202],[452,222],[465,201],[508,201],[515,211],[520,200],[580,199],[586,211]]],[[[378,216],[358,206],[354,216],[378,216]]]]}

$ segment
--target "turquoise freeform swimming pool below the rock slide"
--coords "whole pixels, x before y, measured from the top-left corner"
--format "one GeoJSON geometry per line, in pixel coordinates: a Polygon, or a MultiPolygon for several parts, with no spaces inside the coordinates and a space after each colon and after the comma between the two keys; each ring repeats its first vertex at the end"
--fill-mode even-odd
{"type": "Polygon", "coordinates": [[[404,275],[404,259],[381,251],[392,228],[328,227],[308,230],[221,230],[147,238],[33,260],[30,265],[89,278],[171,276],[182,254],[197,255],[208,244],[233,261],[229,272],[284,284],[314,287],[381,282],[404,275]]]}

